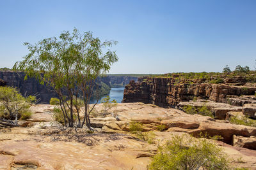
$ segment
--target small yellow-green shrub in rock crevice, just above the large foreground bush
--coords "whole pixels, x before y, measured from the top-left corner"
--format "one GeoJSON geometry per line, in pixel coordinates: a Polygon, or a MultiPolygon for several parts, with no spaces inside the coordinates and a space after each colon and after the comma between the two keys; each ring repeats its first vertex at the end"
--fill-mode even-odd
{"type": "Polygon", "coordinates": [[[132,134],[134,134],[137,138],[147,141],[149,144],[154,143],[155,134],[154,132],[143,132],[143,124],[140,122],[130,122],[129,130],[132,134]]]}

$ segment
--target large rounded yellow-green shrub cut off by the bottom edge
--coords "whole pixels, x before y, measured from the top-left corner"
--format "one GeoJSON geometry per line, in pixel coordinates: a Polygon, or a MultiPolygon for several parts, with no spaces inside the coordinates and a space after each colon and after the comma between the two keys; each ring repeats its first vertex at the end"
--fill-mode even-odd
{"type": "Polygon", "coordinates": [[[148,169],[229,169],[227,155],[208,139],[173,136],[159,146],[148,169]]]}

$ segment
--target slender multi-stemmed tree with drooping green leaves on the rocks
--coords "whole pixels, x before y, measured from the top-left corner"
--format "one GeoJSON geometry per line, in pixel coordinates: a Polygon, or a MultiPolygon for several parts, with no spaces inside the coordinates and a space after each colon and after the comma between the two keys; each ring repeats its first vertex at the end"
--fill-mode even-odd
{"type": "Polygon", "coordinates": [[[86,124],[91,129],[90,113],[98,103],[97,100],[89,107],[93,90],[96,93],[98,90],[95,80],[108,73],[117,62],[115,51],[106,49],[116,43],[101,42],[99,38],[93,38],[92,32],[81,34],[75,28],[73,32],[62,32],[59,38],[46,38],[35,45],[24,43],[29,53],[13,68],[25,71],[25,79],[34,77],[55,90],[66,127],[68,124],[68,127],[83,128],[86,124]],[[77,112],[77,121],[74,120],[74,111],[77,112]]]}

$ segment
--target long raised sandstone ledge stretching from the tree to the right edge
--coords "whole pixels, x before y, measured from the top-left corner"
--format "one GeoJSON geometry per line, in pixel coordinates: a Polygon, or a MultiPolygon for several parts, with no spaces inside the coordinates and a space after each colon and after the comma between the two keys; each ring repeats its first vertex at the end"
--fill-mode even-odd
{"type": "MultiPolygon", "coordinates": [[[[100,107],[102,106],[97,106],[96,110],[101,110],[100,107]]],[[[256,127],[230,124],[225,120],[214,120],[202,115],[189,115],[173,108],[159,108],[154,104],[118,104],[112,111],[118,114],[121,121],[98,117],[92,118],[92,122],[97,123],[97,127],[101,124],[104,132],[128,132],[131,121],[141,122],[145,126],[144,131],[157,130],[159,125],[165,125],[168,132],[186,132],[195,136],[200,132],[210,136],[220,135],[223,137],[222,141],[228,144],[232,143],[233,135],[256,136],[256,127]]]]}

